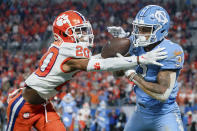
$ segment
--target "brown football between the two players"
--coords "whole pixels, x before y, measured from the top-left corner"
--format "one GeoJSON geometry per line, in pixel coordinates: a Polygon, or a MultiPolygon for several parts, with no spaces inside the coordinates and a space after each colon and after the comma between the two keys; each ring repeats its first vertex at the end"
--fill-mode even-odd
{"type": "Polygon", "coordinates": [[[129,52],[130,40],[126,38],[113,38],[105,44],[101,51],[103,58],[115,57],[116,53],[125,56],[129,52]]]}

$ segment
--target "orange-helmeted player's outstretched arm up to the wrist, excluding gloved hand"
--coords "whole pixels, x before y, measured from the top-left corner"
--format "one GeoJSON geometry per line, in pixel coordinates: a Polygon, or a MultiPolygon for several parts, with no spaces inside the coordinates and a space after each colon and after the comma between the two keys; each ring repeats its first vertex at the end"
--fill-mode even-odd
{"type": "Polygon", "coordinates": [[[116,71],[125,70],[136,66],[138,63],[136,56],[130,57],[113,57],[107,59],[71,59],[63,65],[65,71],[116,71]]]}

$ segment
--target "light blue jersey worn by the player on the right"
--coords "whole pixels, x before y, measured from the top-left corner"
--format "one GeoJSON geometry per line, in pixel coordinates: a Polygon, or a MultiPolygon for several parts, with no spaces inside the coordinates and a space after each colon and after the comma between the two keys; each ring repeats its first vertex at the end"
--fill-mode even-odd
{"type": "MultiPolygon", "coordinates": [[[[131,45],[132,45],[132,36],[130,37],[131,45]]],[[[169,112],[173,110],[173,108],[177,108],[177,105],[174,104],[178,92],[177,86],[177,78],[179,76],[180,70],[183,68],[184,63],[184,52],[182,48],[170,40],[164,39],[159,45],[157,45],[154,49],[159,47],[165,47],[165,51],[168,53],[166,59],[160,60],[162,67],[157,65],[141,65],[136,67],[136,72],[144,76],[144,80],[148,82],[156,82],[157,75],[159,71],[162,70],[175,70],[176,71],[176,82],[173,87],[173,90],[169,96],[169,98],[165,102],[160,102],[146,94],[142,89],[140,89],[137,85],[134,87],[134,91],[137,97],[137,103],[146,107],[144,109],[145,112],[169,112]],[[174,106],[172,106],[174,104],[174,106]],[[175,106],[176,105],[176,106],[175,106]]],[[[153,50],[154,50],[153,49],[153,50]]],[[[131,55],[142,55],[144,54],[143,47],[134,48],[133,46],[130,47],[130,54],[131,55]]]]}

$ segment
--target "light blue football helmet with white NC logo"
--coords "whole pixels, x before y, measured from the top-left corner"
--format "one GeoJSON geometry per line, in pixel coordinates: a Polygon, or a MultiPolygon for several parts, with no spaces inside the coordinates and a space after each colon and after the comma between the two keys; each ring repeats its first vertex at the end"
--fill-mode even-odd
{"type": "Polygon", "coordinates": [[[133,21],[134,46],[148,46],[161,41],[168,35],[170,17],[167,11],[158,5],[148,5],[142,8],[133,21]],[[149,27],[150,33],[140,34],[139,29],[149,27]]]}

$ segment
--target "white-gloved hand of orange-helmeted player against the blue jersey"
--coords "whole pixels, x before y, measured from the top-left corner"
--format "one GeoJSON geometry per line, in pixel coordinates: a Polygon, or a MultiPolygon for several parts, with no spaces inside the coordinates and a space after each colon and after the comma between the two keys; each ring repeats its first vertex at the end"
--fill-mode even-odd
{"type": "Polygon", "coordinates": [[[146,54],[139,56],[139,63],[141,64],[153,64],[158,66],[163,66],[163,64],[157,62],[158,60],[162,60],[167,58],[167,52],[164,52],[165,48],[157,48],[146,54]]]}

